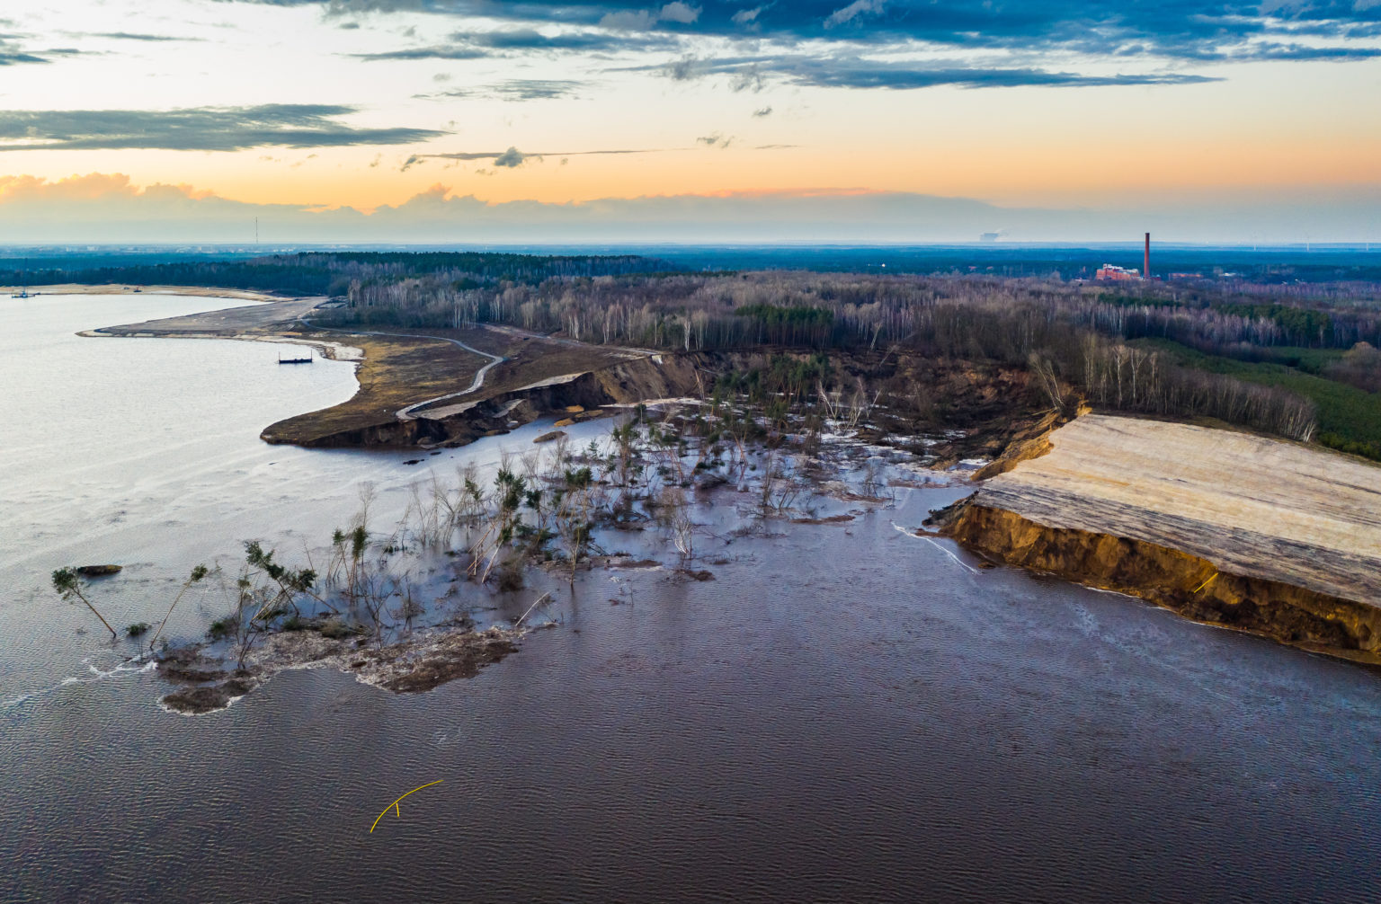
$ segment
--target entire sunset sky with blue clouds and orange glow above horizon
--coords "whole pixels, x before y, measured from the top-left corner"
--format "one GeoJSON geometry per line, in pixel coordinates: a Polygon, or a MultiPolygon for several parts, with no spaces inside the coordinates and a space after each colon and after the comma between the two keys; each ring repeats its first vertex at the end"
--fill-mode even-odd
{"type": "Polygon", "coordinates": [[[0,242],[1381,242],[1381,0],[7,0],[0,242]]]}

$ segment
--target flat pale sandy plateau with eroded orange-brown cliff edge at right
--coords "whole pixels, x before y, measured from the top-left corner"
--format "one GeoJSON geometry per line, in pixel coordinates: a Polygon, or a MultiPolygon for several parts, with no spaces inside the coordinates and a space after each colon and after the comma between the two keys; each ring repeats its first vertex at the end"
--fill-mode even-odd
{"type": "Polygon", "coordinates": [[[1087,414],[936,516],[976,552],[1381,664],[1381,468],[1247,433],[1087,414]]]}

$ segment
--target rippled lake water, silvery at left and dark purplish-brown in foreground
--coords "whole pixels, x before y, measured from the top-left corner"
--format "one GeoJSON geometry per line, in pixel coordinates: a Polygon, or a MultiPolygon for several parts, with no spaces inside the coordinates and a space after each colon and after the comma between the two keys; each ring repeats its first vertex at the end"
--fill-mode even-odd
{"type": "Polygon", "coordinates": [[[963,489],[706,547],[708,582],[594,571],[425,694],[302,671],[163,711],[52,567],[127,564],[101,599],[152,621],[193,562],[316,542],[360,480],[396,512],[418,468],[543,429],[417,466],[269,447],[348,366],[72,335],[209,306],[3,309],[0,900],[1381,898],[1381,676],[896,530],[963,489]]]}

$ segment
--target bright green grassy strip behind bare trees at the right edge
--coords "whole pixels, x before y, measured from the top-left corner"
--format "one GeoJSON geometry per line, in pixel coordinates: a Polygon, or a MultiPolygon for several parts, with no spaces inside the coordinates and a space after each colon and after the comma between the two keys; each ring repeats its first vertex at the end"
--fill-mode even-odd
{"type": "Polygon", "coordinates": [[[1177,363],[1185,367],[1228,374],[1266,386],[1280,386],[1312,399],[1319,406],[1317,440],[1322,446],[1381,461],[1381,393],[1366,392],[1317,375],[1326,364],[1341,357],[1340,351],[1273,349],[1277,360],[1295,364],[1288,366],[1204,355],[1167,340],[1137,340],[1131,345],[1172,355],[1177,363]]]}

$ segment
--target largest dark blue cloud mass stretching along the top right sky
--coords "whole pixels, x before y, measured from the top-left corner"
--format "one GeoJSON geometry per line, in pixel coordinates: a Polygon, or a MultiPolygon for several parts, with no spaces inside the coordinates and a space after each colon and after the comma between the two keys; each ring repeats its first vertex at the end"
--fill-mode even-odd
{"type": "MultiPolygon", "coordinates": [[[[661,70],[675,80],[722,75],[731,90],[751,92],[782,81],[894,90],[1193,84],[1217,79],[1175,69],[1254,61],[1346,62],[1381,55],[1375,46],[1381,39],[1381,1],[1370,0],[1275,6],[1196,0],[221,1],[316,7],[327,14],[421,11],[508,23],[497,30],[453,33],[442,44],[359,55],[367,61],[667,52],[670,59],[660,66],[621,70],[661,70]],[[563,33],[537,30],[552,30],[548,26],[554,25],[563,33]],[[706,37],[732,40],[732,47],[721,46],[720,51],[733,58],[699,58],[706,43],[695,39],[706,37]],[[936,48],[958,58],[935,62],[936,48]],[[1135,62],[1142,72],[1077,72],[1070,54],[1117,69],[1135,62]],[[881,55],[888,58],[878,59],[881,55]],[[1146,73],[1146,62],[1159,63],[1157,70],[1146,73]]],[[[539,88],[508,97],[552,95],[539,88]]]]}

